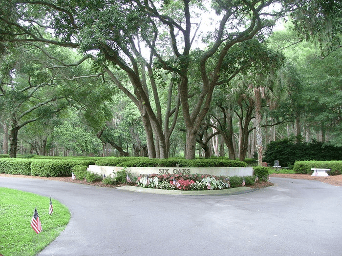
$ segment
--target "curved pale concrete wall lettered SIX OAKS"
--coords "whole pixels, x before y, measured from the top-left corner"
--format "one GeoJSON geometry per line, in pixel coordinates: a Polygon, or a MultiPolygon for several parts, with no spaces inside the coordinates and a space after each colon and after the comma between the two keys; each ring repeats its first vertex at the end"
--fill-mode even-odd
{"type": "Polygon", "coordinates": [[[126,168],[126,170],[130,171],[131,174],[138,177],[142,174],[209,174],[215,176],[253,176],[253,168],[252,167],[215,167],[215,168],[205,168],[205,167],[118,167],[118,166],[99,166],[99,165],[89,165],[87,168],[88,171],[101,174],[101,175],[110,175],[116,173],[117,171],[121,171],[126,168]]]}

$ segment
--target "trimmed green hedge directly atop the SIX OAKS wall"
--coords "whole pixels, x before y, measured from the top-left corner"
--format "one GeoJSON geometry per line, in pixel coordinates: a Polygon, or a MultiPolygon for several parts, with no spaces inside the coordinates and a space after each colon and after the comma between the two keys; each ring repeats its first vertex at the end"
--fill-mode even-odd
{"type": "Polygon", "coordinates": [[[96,161],[96,165],[101,166],[127,166],[127,167],[245,167],[245,162],[229,160],[225,158],[214,159],[184,159],[184,158],[141,158],[141,157],[122,157],[122,158],[102,158],[96,161]]]}

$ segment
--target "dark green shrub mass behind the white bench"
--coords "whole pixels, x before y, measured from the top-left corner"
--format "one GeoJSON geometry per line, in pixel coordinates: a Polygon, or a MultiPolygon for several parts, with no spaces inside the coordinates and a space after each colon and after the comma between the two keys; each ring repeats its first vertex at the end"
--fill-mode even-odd
{"type": "Polygon", "coordinates": [[[275,160],[279,160],[280,166],[288,166],[302,160],[342,160],[342,147],[317,141],[311,143],[293,143],[292,139],[271,141],[263,160],[272,164],[275,160]]]}

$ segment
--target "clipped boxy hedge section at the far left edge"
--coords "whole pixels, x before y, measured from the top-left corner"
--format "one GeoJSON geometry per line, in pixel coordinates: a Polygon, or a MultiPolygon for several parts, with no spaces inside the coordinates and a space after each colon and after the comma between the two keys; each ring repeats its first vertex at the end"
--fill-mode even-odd
{"type": "Polygon", "coordinates": [[[0,173],[31,175],[32,159],[0,158],[0,173]]]}

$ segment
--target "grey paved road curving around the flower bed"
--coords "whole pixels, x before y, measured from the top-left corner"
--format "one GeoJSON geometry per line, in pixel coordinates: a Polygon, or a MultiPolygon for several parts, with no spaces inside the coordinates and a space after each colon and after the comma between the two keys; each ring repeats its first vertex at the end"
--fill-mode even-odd
{"type": "Polygon", "coordinates": [[[271,177],[275,186],[226,196],[174,196],[54,180],[0,177],[52,195],[71,219],[39,256],[340,256],[342,187],[271,177]]]}

